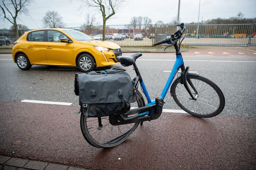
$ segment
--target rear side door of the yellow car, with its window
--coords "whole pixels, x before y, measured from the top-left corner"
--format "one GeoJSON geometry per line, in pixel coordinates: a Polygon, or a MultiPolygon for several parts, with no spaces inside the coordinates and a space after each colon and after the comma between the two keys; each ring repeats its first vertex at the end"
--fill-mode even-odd
{"type": "Polygon", "coordinates": [[[25,51],[31,64],[47,63],[44,47],[44,30],[28,33],[25,51]]]}

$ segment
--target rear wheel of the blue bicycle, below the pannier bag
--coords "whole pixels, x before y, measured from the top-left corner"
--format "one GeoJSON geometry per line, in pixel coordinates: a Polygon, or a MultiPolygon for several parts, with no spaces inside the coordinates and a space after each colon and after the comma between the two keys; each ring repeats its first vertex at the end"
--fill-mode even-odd
{"type": "MultiPolygon", "coordinates": [[[[138,93],[138,100],[131,103],[131,109],[136,107],[145,106],[143,96],[138,93]]],[[[133,133],[140,122],[124,124],[124,125],[111,125],[109,116],[101,117],[102,128],[98,130],[97,117],[85,117],[83,113],[80,116],[80,127],[86,141],[96,148],[110,148],[119,145],[125,141],[128,136],[133,133]]]]}

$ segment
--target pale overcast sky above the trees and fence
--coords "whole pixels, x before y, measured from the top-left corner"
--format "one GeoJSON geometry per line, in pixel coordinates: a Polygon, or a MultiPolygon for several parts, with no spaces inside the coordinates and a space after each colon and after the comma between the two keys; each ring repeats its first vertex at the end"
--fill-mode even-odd
{"type": "MultiPolygon", "coordinates": [[[[180,18],[182,22],[197,22],[199,0],[180,0],[180,18]]],[[[29,29],[43,28],[42,18],[48,10],[57,11],[66,23],[66,27],[79,27],[85,22],[86,13],[92,13],[96,21],[102,25],[102,16],[97,9],[79,10],[77,0],[35,0],[29,7],[27,16],[20,15],[17,23],[29,29]]],[[[256,17],[256,0],[201,0],[200,21],[213,18],[235,17],[241,11],[246,18],[256,17]]],[[[158,20],[168,23],[178,13],[178,0],[127,0],[107,20],[106,25],[123,25],[130,22],[131,17],[149,17],[152,23],[158,20]]],[[[8,20],[0,18],[0,28],[10,28],[8,20]]]]}

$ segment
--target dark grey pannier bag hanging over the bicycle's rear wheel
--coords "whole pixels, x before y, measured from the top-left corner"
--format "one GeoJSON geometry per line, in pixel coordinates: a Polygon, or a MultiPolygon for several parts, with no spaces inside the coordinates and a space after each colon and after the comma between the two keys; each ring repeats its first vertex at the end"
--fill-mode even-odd
{"type": "Polygon", "coordinates": [[[77,73],[75,94],[85,116],[101,117],[125,113],[133,100],[131,77],[126,72],[77,73]],[[112,74],[110,74],[112,73],[112,74]]]}

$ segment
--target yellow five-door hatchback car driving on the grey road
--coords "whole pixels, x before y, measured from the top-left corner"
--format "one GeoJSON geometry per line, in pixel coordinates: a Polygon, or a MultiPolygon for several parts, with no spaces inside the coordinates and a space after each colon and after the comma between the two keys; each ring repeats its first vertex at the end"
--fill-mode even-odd
{"type": "Polygon", "coordinates": [[[12,48],[18,67],[28,70],[32,65],[77,66],[83,72],[117,64],[122,55],[119,45],[94,40],[83,32],[51,28],[25,32],[12,48]]]}

